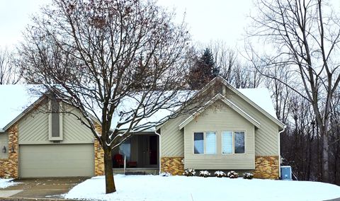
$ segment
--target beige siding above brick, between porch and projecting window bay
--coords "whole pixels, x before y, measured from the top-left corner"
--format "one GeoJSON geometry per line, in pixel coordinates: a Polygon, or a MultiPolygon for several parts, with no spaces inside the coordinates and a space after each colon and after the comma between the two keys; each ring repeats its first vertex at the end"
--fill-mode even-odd
{"type": "Polygon", "coordinates": [[[161,128],[161,157],[184,156],[183,131],[179,130],[179,124],[186,117],[177,117],[169,120],[161,128]]]}

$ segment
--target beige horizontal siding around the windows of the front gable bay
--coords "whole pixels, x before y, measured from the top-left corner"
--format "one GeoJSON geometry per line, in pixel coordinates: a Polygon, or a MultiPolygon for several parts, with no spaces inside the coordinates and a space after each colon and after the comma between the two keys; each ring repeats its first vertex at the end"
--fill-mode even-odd
{"type": "Polygon", "coordinates": [[[254,169],[254,125],[217,101],[184,127],[184,168],[254,169]],[[243,131],[245,154],[222,154],[222,132],[243,131]],[[217,154],[193,154],[193,132],[216,132],[217,154]]]}

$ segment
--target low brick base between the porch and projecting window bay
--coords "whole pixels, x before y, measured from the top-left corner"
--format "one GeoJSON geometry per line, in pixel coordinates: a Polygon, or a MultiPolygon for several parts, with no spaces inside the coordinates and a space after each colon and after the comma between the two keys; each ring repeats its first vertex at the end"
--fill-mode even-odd
{"type": "Polygon", "coordinates": [[[161,172],[168,172],[172,175],[182,175],[184,172],[183,157],[162,157],[161,172]]]}

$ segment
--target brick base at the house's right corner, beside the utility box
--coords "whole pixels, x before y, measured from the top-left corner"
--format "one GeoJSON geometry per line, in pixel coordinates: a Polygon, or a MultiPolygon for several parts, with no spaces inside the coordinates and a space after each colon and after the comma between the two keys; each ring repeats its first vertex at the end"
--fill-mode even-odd
{"type": "Polygon", "coordinates": [[[255,156],[254,178],[278,179],[278,156],[255,156]]]}

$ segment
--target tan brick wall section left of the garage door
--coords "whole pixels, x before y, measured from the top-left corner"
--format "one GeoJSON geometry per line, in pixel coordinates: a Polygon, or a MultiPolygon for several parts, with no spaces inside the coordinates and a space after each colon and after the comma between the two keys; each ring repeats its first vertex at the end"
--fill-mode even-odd
{"type": "Polygon", "coordinates": [[[0,177],[18,178],[18,124],[8,129],[8,159],[0,159],[0,177]]]}

